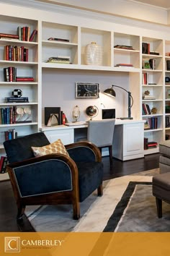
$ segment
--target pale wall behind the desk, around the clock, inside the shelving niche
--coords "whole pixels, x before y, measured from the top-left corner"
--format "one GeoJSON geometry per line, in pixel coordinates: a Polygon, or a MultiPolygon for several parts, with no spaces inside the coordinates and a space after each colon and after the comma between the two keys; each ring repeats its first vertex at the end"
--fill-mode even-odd
{"type": "Polygon", "coordinates": [[[48,69],[42,74],[42,122],[44,121],[45,106],[61,106],[66,114],[68,121],[73,121],[73,107],[78,105],[81,110],[79,120],[88,120],[85,110],[88,106],[97,106],[99,114],[95,119],[101,118],[101,103],[105,108],[116,108],[116,116],[128,116],[128,93],[124,90],[115,88],[116,98],[111,98],[103,94],[103,91],[110,88],[112,84],[127,88],[128,75],[117,72],[91,72],[91,71],[71,71],[48,69]],[[76,99],[75,82],[98,82],[99,98],[97,99],[76,99]]]}

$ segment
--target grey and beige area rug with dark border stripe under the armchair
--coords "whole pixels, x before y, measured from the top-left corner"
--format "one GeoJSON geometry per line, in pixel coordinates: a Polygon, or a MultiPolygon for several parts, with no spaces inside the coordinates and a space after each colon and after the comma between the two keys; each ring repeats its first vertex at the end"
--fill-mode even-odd
{"type": "Polygon", "coordinates": [[[158,219],[151,191],[158,169],[139,174],[104,182],[102,197],[94,192],[81,202],[79,221],[73,220],[71,205],[28,206],[26,216],[35,231],[43,232],[170,231],[170,205],[164,203],[158,219]]]}

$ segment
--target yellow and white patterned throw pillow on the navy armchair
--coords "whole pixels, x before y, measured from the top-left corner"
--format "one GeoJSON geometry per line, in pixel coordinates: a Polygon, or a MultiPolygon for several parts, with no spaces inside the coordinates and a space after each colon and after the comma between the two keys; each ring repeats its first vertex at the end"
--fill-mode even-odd
{"type": "Polygon", "coordinates": [[[60,154],[69,156],[66,148],[64,147],[60,139],[44,147],[31,147],[31,148],[35,156],[49,155],[49,154],[55,154],[55,153],[60,153],[60,154]]]}

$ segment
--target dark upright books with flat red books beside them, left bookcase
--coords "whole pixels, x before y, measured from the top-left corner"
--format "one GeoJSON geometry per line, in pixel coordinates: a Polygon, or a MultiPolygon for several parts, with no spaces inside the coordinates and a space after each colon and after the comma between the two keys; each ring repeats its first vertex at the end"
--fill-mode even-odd
{"type": "Polygon", "coordinates": [[[5,82],[34,82],[34,77],[17,77],[17,67],[4,67],[5,82]]]}

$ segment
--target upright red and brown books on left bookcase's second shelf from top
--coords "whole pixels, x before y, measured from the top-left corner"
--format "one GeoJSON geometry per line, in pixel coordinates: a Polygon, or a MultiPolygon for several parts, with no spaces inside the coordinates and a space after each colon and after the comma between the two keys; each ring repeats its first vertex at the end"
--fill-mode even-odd
{"type": "Polygon", "coordinates": [[[4,46],[4,59],[6,61],[28,61],[28,48],[24,46],[4,46]]]}

